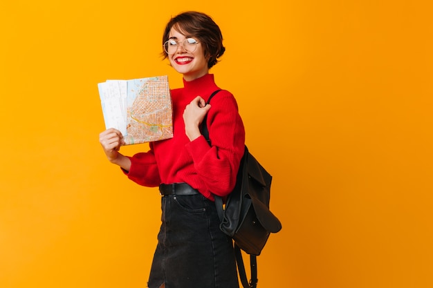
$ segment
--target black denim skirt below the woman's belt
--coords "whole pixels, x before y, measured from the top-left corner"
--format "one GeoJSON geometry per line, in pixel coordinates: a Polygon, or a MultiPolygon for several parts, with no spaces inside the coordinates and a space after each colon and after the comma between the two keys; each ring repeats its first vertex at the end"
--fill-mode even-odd
{"type": "Polygon", "coordinates": [[[201,194],[164,195],[148,287],[239,288],[233,243],[219,229],[214,202],[201,194]]]}

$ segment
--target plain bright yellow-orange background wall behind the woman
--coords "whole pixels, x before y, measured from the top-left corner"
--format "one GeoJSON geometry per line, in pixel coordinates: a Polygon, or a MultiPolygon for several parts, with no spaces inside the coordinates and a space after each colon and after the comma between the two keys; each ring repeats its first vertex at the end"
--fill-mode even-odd
{"type": "MultiPolygon", "coordinates": [[[[169,75],[207,12],[282,220],[259,287],[433,287],[430,1],[2,1],[0,287],[145,287],[160,196],[105,159],[97,84],[169,75]]],[[[146,150],[122,148],[131,155],[146,150]]]]}

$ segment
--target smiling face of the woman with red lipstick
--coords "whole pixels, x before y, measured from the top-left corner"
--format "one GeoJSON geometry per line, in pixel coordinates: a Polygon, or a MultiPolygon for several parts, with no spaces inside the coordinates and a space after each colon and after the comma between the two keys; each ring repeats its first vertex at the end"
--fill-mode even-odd
{"type": "MultiPolygon", "coordinates": [[[[181,32],[172,28],[169,33],[169,39],[181,42],[187,37],[181,32]]],[[[194,38],[194,37],[193,37],[194,38]]],[[[195,38],[194,38],[195,39],[195,38]]],[[[173,68],[183,75],[186,81],[192,81],[209,73],[208,59],[205,59],[205,52],[200,41],[196,44],[194,52],[187,52],[181,43],[177,44],[177,50],[173,55],[168,55],[170,64],[173,68]]]]}

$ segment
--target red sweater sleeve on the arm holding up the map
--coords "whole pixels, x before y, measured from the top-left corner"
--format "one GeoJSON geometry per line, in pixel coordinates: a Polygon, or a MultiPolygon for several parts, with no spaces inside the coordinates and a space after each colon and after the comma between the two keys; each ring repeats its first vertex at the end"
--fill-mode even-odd
{"type": "Polygon", "coordinates": [[[131,160],[131,169],[129,169],[129,171],[122,171],[130,180],[137,184],[155,187],[160,184],[160,175],[151,144],[150,147],[148,152],[137,153],[129,157],[131,160]]]}

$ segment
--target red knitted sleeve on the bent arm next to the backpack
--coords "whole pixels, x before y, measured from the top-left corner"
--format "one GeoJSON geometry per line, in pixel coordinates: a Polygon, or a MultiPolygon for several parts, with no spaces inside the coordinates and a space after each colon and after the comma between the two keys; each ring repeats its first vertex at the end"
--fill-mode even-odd
{"type": "Polygon", "coordinates": [[[225,196],[236,184],[245,149],[245,130],[237,102],[228,91],[216,95],[211,105],[207,121],[211,146],[201,135],[186,148],[206,188],[216,195],[225,196]]]}

